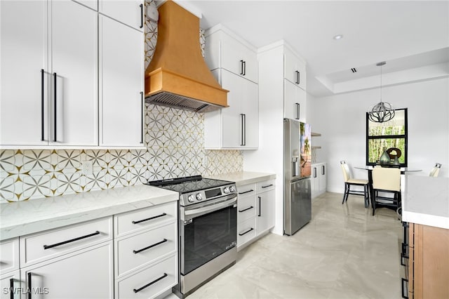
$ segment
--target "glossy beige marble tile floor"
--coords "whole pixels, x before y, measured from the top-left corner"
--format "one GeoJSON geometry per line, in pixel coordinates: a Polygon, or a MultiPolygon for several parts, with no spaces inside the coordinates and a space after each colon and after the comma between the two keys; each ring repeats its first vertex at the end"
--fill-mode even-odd
{"type": "Polygon", "coordinates": [[[239,251],[236,265],[189,295],[196,298],[401,298],[402,227],[363,198],[326,193],[291,237],[267,234],[239,251]]]}

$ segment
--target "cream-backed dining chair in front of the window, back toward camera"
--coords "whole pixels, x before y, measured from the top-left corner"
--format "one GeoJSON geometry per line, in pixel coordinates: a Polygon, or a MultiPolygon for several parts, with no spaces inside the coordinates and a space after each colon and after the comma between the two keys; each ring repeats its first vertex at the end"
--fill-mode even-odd
{"type": "Polygon", "coordinates": [[[401,206],[401,169],[375,167],[373,168],[373,198],[371,206],[373,215],[376,208],[391,208],[397,211],[401,206]],[[380,192],[393,193],[393,197],[386,197],[380,192]]]}

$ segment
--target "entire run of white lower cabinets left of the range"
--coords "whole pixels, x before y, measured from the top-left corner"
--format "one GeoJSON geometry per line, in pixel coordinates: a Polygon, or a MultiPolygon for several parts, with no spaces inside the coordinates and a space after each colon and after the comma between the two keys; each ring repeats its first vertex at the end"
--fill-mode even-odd
{"type": "Polygon", "coordinates": [[[171,201],[0,241],[0,298],[154,298],[177,267],[171,201]]]}

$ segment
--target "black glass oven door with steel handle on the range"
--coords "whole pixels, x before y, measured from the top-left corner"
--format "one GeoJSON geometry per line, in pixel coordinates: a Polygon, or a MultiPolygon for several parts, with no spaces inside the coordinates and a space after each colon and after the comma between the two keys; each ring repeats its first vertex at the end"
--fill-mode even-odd
{"type": "Polygon", "coordinates": [[[236,194],[181,207],[181,274],[186,275],[237,244],[236,194]]]}

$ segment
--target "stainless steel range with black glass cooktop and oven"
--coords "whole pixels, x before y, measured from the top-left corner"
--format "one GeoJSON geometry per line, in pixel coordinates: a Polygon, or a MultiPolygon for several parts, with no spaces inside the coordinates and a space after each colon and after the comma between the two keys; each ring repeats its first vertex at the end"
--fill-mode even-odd
{"type": "Polygon", "coordinates": [[[236,263],[236,184],[195,175],[148,185],[180,192],[180,276],[173,292],[185,298],[236,263]]]}

